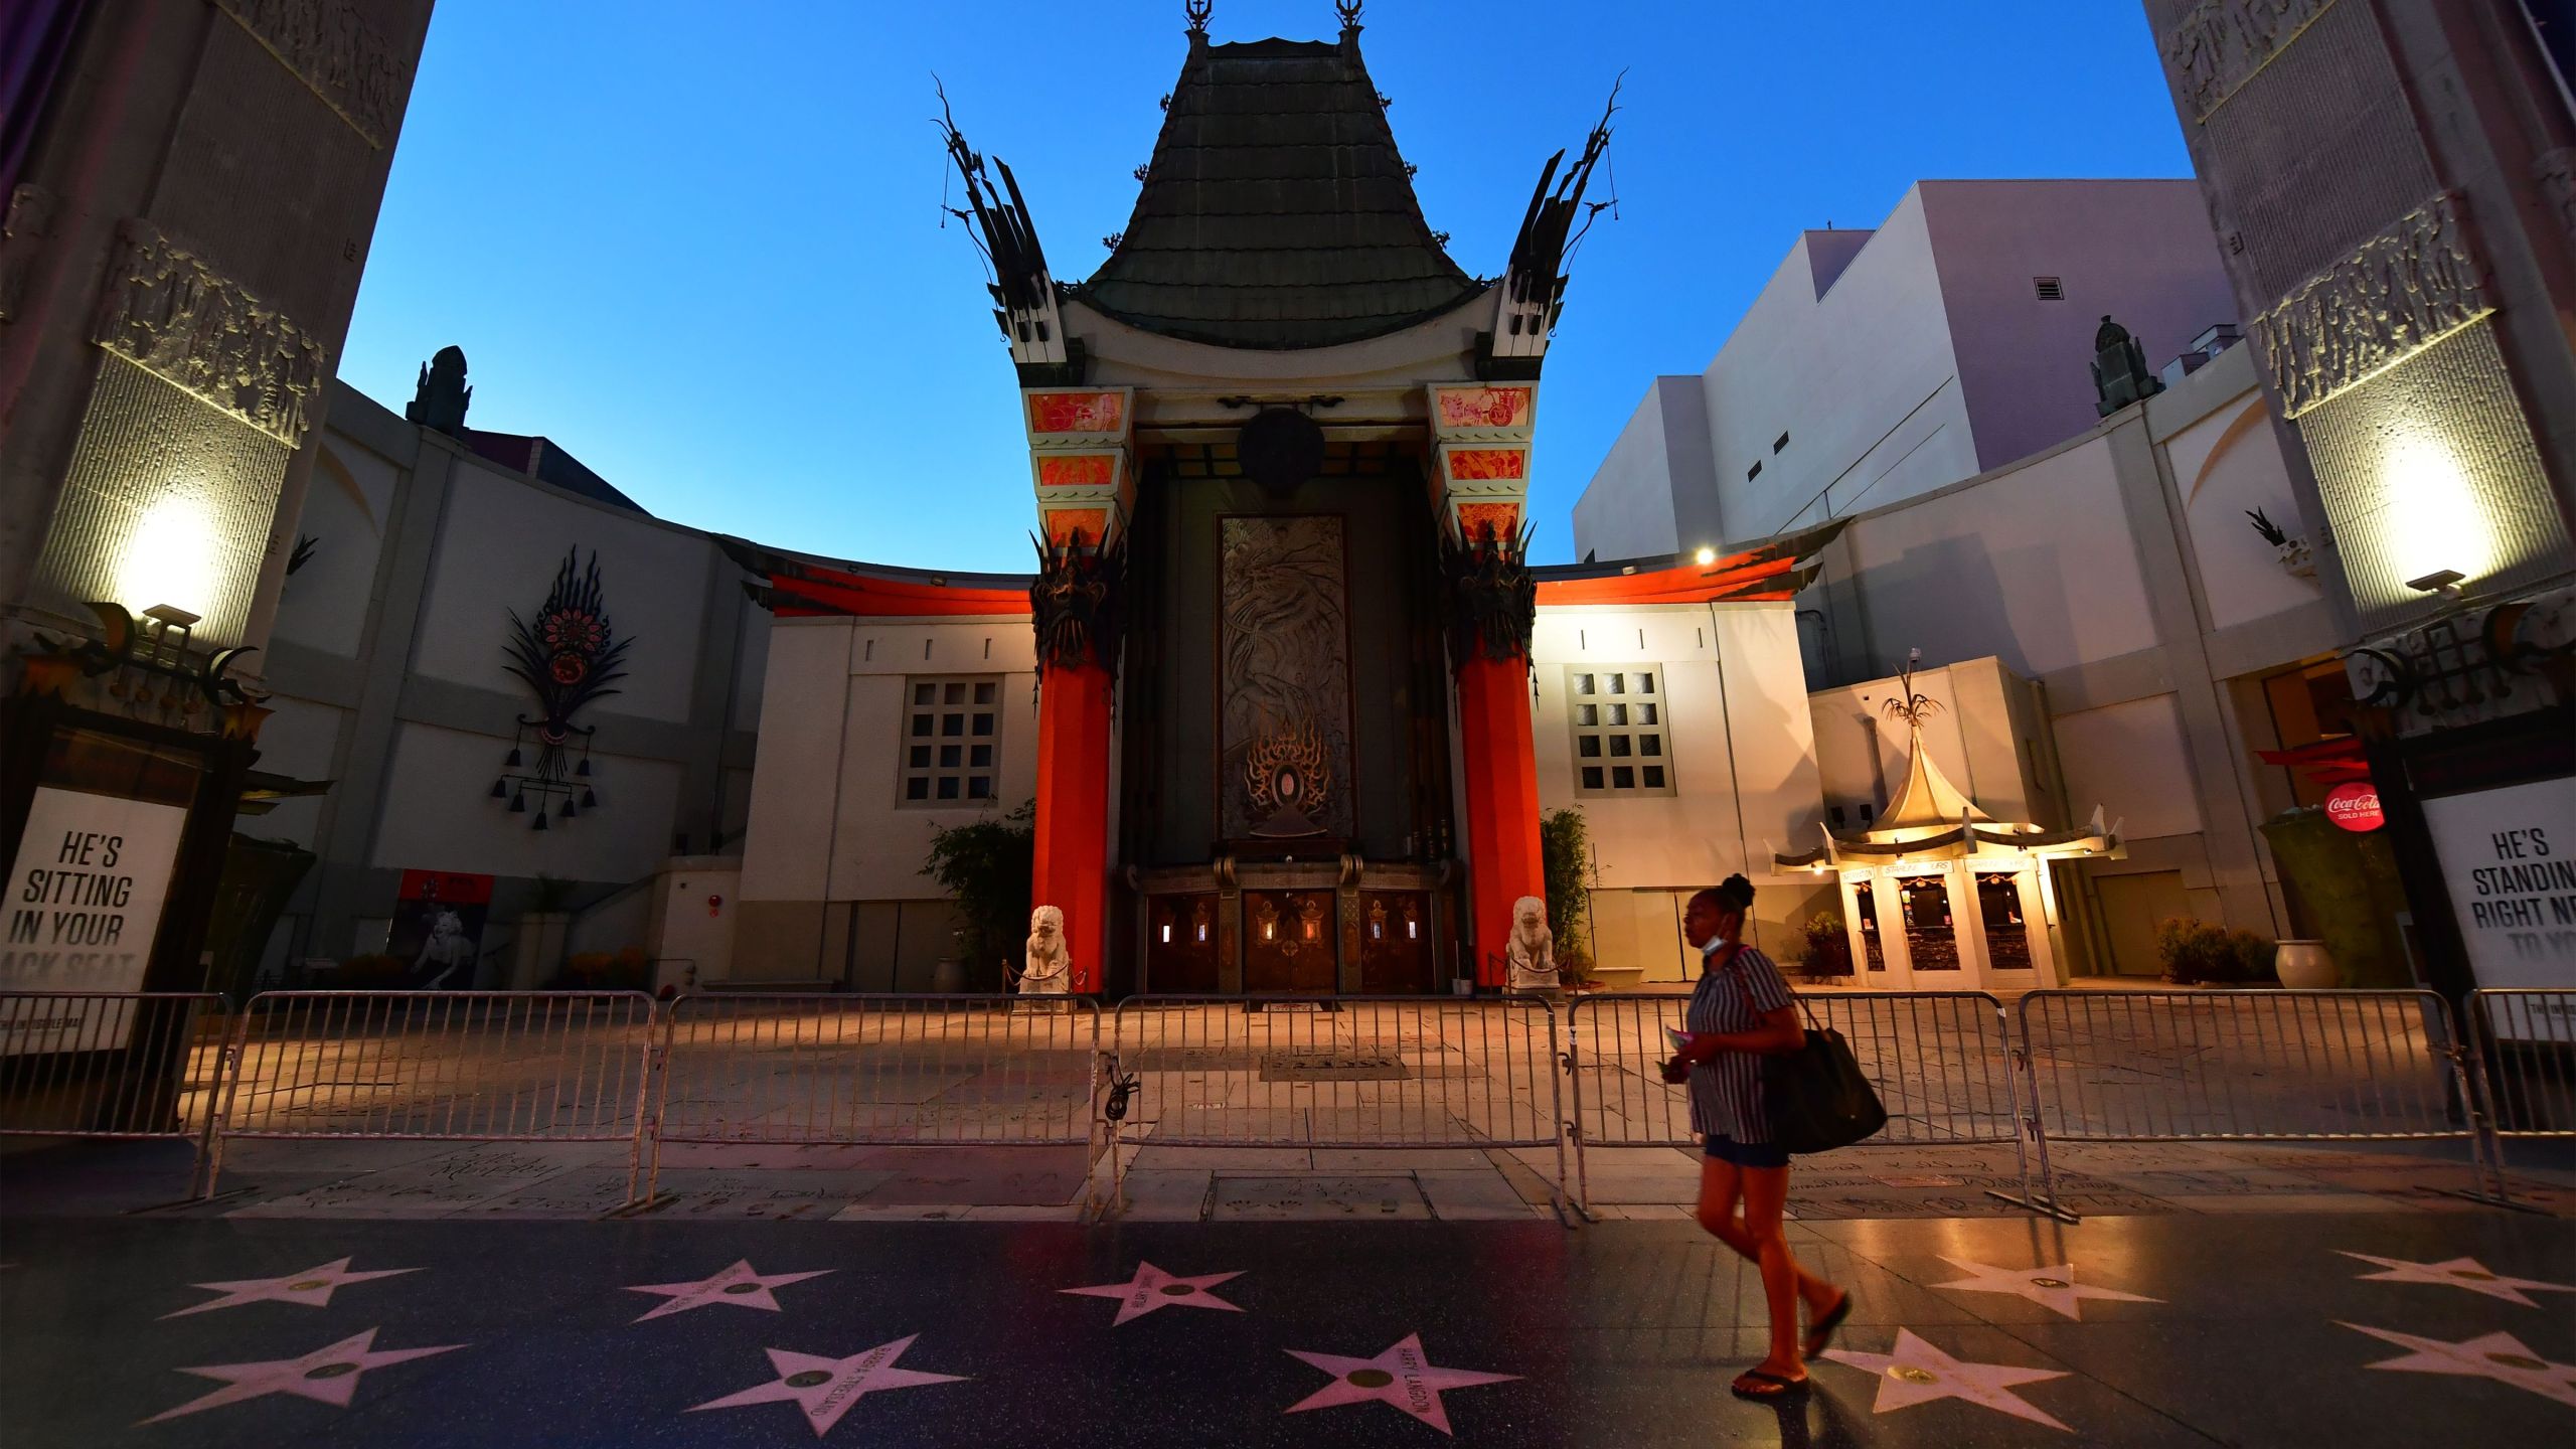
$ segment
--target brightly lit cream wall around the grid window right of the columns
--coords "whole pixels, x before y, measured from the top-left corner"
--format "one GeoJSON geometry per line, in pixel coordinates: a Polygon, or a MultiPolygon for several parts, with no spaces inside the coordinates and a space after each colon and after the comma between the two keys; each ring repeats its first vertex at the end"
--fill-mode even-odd
{"type": "Polygon", "coordinates": [[[1821,797],[1788,603],[1548,608],[1530,634],[1543,810],[1574,804],[1602,890],[1695,890],[1770,874],[1770,848],[1816,833],[1821,797]],[[1664,673],[1674,794],[1577,797],[1566,665],[1664,673]]]}

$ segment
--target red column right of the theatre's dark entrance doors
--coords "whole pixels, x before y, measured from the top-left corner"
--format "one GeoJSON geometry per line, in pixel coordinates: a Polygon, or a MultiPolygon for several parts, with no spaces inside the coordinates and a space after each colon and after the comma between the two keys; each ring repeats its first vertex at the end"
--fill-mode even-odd
{"type": "Polygon", "coordinates": [[[1476,985],[1502,985],[1512,902],[1546,897],[1538,856],[1538,753],[1530,743],[1528,657],[1458,663],[1458,743],[1466,784],[1468,928],[1476,985]]]}

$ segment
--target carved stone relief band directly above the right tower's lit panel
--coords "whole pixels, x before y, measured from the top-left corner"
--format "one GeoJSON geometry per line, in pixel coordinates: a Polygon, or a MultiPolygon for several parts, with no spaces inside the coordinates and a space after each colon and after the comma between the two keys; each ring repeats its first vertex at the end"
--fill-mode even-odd
{"type": "Polygon", "coordinates": [[[2494,309],[2445,191],[2254,317],[2254,335],[2282,418],[2298,418],[2494,309]]]}

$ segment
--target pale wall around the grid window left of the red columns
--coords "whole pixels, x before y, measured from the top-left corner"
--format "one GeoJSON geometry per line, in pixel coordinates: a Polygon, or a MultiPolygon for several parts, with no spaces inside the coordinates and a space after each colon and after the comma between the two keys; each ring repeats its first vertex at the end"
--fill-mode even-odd
{"type": "Polygon", "coordinates": [[[904,683],[999,676],[989,810],[1038,784],[1036,637],[1007,619],[781,619],[752,763],[744,900],[938,900],[930,833],[984,807],[899,799],[904,683]]]}

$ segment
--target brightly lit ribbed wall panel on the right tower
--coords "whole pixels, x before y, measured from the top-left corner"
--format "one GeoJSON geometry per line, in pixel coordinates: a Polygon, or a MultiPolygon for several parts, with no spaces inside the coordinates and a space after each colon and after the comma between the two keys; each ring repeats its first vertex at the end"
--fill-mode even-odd
{"type": "Polygon", "coordinates": [[[2298,420],[2365,629],[2432,614],[2406,588],[2460,570],[2491,593],[2566,567],[2566,523],[2530,423],[2478,322],[2298,420]]]}

